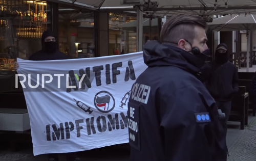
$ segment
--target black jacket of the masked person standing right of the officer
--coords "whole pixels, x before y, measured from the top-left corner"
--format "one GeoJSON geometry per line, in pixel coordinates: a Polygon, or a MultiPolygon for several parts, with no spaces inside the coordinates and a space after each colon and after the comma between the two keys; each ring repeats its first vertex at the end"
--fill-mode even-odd
{"type": "Polygon", "coordinates": [[[217,101],[231,100],[233,94],[239,90],[236,66],[229,61],[224,64],[218,64],[216,61],[212,61],[210,64],[212,65],[212,71],[207,89],[211,96],[217,101]]]}

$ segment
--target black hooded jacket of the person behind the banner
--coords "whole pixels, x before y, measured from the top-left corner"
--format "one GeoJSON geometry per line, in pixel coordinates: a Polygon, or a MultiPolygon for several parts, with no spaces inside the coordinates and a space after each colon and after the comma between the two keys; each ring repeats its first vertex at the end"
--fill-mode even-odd
{"type": "Polygon", "coordinates": [[[56,36],[54,35],[54,33],[50,30],[45,31],[42,34],[41,37],[41,45],[42,45],[42,49],[33,53],[30,57],[29,60],[32,61],[47,61],[47,60],[63,60],[63,59],[68,59],[68,56],[65,55],[65,53],[60,52],[60,51],[55,51],[53,53],[49,53],[45,50],[44,48],[44,43],[45,43],[45,38],[47,38],[48,36],[53,36],[56,38],[56,36]]]}

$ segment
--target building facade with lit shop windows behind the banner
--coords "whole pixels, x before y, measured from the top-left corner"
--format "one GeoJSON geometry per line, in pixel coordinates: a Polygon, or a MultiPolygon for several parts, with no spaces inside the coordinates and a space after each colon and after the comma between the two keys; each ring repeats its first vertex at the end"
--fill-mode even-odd
{"type": "MultiPolygon", "coordinates": [[[[46,30],[57,35],[58,49],[70,59],[137,51],[136,12],[95,11],[59,0],[3,0],[0,7],[1,95],[17,90],[14,62],[40,50],[41,35],[46,30]]],[[[161,18],[143,17],[143,44],[158,40],[161,18]]]]}

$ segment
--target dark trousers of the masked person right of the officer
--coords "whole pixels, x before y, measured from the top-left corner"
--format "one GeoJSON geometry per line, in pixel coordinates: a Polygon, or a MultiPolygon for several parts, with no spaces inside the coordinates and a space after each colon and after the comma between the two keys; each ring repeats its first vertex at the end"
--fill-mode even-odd
{"type": "Polygon", "coordinates": [[[225,131],[225,136],[226,136],[227,135],[227,120],[230,115],[231,101],[216,101],[216,105],[218,106],[218,109],[221,109],[221,111],[226,115],[225,122],[224,122],[224,131],[225,131]]]}

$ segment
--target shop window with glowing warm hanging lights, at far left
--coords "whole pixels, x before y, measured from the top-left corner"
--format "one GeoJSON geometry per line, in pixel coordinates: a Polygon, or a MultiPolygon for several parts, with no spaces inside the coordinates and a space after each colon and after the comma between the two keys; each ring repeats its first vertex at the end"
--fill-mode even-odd
{"type": "Polygon", "coordinates": [[[41,49],[41,35],[50,25],[45,1],[0,1],[0,69],[12,69],[7,58],[28,59],[41,49]]]}

